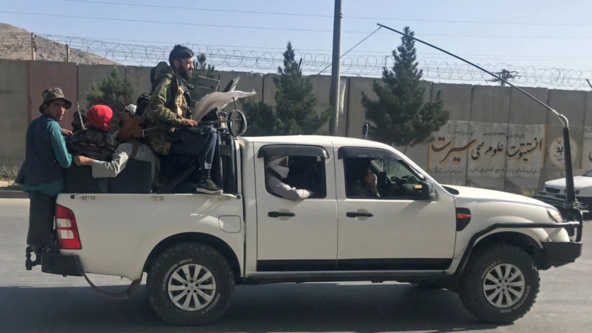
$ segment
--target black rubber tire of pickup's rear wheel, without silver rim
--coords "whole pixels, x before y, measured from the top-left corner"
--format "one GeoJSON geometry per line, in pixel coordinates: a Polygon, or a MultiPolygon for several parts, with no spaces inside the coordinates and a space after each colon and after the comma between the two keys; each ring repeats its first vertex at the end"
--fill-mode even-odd
{"type": "Polygon", "coordinates": [[[150,306],[164,321],[178,326],[211,324],[226,313],[234,293],[234,276],[226,258],[209,245],[182,243],[166,249],[150,266],[146,280],[150,306]],[[170,274],[185,264],[198,264],[215,279],[213,300],[203,309],[188,311],[178,308],[170,299],[170,274]]]}

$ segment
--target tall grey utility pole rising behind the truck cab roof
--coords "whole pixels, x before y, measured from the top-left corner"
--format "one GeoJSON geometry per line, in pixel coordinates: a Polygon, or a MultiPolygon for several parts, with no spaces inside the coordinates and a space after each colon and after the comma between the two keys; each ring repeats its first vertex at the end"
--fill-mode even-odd
{"type": "Polygon", "coordinates": [[[329,91],[329,105],[333,110],[333,116],[329,123],[329,134],[337,135],[337,123],[339,122],[339,83],[341,55],[341,20],[343,0],[335,0],[335,16],[333,19],[333,64],[331,66],[331,89],[329,91]]]}

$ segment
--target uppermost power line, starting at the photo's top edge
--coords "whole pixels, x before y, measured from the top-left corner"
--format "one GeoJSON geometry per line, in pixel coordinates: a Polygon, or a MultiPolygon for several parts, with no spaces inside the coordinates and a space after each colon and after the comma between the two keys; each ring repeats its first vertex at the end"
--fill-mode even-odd
{"type": "MultiPolygon", "coordinates": [[[[159,5],[144,5],[144,4],[124,4],[121,2],[105,2],[105,1],[88,1],[88,0],[59,0],[67,2],[83,2],[86,4],[102,4],[102,5],[121,5],[133,7],[147,7],[147,8],[162,8],[162,9],[182,9],[194,11],[214,11],[214,12],[234,12],[241,14],[263,14],[263,15],[285,15],[285,16],[300,16],[300,17],[326,17],[333,18],[332,15],[318,15],[318,14],[295,14],[285,12],[260,12],[260,11],[235,11],[230,9],[210,9],[210,8],[185,8],[159,5]]],[[[451,20],[421,20],[410,18],[384,18],[384,17],[358,17],[358,16],[344,16],[343,18],[353,18],[358,20],[390,20],[390,21],[415,21],[415,22],[438,22],[438,23],[464,23],[464,24],[509,24],[509,25],[563,25],[563,26],[587,26],[592,24],[575,24],[575,23],[522,23],[522,22],[484,22],[484,21],[451,21],[451,20]]]]}

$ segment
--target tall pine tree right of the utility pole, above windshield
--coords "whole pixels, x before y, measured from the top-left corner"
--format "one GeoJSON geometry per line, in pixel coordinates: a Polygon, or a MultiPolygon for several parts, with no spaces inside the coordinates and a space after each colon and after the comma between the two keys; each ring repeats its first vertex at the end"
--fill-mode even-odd
{"type": "MultiPolygon", "coordinates": [[[[405,27],[404,33],[414,36],[409,27],[405,27]]],[[[409,146],[431,142],[433,132],[449,118],[449,112],[443,110],[440,91],[435,101],[424,102],[423,71],[417,68],[415,41],[408,36],[401,37],[401,45],[392,51],[392,69],[385,67],[382,71],[384,85],[375,81],[372,86],[378,100],[371,100],[362,92],[362,105],[370,121],[368,135],[387,145],[405,147],[405,151],[409,146]]]]}

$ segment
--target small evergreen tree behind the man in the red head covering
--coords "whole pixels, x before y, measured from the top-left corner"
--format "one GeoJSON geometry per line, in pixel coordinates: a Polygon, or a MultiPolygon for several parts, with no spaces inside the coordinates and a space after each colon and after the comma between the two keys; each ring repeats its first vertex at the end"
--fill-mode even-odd
{"type": "Polygon", "coordinates": [[[130,78],[121,79],[116,66],[113,66],[111,74],[103,78],[98,85],[92,84],[86,94],[89,108],[97,104],[107,105],[114,114],[123,112],[126,106],[135,103],[136,99],[136,89],[130,78]]]}

